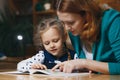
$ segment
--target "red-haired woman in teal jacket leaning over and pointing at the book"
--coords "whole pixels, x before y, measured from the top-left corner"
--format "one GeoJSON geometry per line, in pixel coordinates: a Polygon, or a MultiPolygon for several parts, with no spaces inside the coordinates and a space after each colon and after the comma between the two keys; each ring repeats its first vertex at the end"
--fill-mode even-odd
{"type": "Polygon", "coordinates": [[[57,15],[79,59],[60,63],[53,70],[120,74],[119,12],[102,9],[95,0],[58,0],[57,15]]]}

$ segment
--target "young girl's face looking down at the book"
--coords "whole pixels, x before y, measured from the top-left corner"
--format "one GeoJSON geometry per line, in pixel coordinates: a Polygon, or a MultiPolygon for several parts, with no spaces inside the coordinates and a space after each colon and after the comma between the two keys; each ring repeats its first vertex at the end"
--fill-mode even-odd
{"type": "Polygon", "coordinates": [[[50,28],[41,35],[44,48],[56,57],[63,55],[63,39],[56,28],[50,28]]]}

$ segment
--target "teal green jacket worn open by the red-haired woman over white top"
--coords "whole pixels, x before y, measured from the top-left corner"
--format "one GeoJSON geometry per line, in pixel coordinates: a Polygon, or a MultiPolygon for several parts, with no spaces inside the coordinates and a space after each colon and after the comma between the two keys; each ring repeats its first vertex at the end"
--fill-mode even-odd
{"type": "MultiPolygon", "coordinates": [[[[79,36],[69,36],[79,58],[86,58],[79,36]]],[[[104,11],[100,40],[92,46],[93,60],[108,62],[110,74],[120,74],[120,13],[114,9],[104,11]]]]}

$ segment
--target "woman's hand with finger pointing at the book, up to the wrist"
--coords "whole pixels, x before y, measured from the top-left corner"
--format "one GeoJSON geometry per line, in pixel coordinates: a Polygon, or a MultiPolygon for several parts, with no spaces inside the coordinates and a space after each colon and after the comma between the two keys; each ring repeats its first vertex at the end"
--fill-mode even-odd
{"type": "Polygon", "coordinates": [[[69,60],[57,64],[55,67],[52,68],[52,70],[54,71],[55,69],[59,68],[62,72],[71,73],[74,70],[85,68],[85,62],[85,59],[69,60]]]}

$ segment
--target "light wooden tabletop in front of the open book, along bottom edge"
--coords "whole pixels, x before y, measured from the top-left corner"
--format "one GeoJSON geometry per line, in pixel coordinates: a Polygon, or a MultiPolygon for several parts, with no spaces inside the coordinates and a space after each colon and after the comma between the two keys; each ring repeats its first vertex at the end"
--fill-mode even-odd
{"type": "MultiPolygon", "coordinates": [[[[7,70],[6,70],[7,71],[7,70]]],[[[120,80],[120,75],[80,75],[80,76],[49,76],[42,74],[0,74],[0,80],[120,80]]]]}

